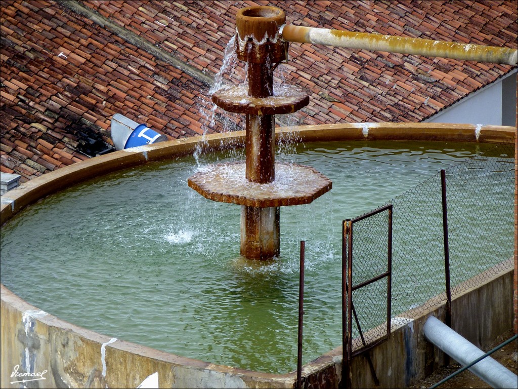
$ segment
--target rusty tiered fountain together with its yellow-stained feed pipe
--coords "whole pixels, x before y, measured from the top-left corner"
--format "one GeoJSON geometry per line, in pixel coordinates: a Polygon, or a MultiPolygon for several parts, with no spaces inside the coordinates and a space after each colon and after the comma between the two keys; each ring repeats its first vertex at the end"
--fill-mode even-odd
{"type": "Polygon", "coordinates": [[[248,90],[222,88],[212,101],[227,112],[247,115],[246,162],[212,166],[188,179],[207,199],[242,206],[241,255],[248,259],[279,255],[280,206],[310,203],[332,187],[329,179],[307,166],[275,163],[275,115],[294,113],[309,103],[309,96],[297,87],[274,90],[273,73],[286,59],[289,41],[516,64],[516,50],[509,48],[317,29],[285,25],[285,20],[284,11],[276,7],[238,11],[236,51],[247,62],[248,90]],[[243,171],[246,179],[236,181],[243,171]],[[289,185],[278,185],[276,174],[289,177],[289,185]]]}

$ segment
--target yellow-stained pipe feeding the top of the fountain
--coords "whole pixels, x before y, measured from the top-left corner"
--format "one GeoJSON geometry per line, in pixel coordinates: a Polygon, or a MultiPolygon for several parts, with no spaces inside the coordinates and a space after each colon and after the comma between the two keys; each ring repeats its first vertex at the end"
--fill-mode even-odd
{"type": "Polygon", "coordinates": [[[517,59],[517,50],[507,47],[481,46],[422,38],[318,29],[293,24],[282,25],[279,34],[281,39],[289,42],[417,54],[424,55],[425,57],[453,58],[508,65],[516,65],[517,59]]]}

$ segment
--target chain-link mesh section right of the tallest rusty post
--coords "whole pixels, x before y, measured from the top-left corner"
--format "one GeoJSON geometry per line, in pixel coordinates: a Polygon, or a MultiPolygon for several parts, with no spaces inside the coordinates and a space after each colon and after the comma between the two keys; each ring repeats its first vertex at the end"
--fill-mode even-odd
{"type": "Polygon", "coordinates": [[[512,145],[500,146],[446,172],[452,294],[512,263],[513,151],[512,145]]]}

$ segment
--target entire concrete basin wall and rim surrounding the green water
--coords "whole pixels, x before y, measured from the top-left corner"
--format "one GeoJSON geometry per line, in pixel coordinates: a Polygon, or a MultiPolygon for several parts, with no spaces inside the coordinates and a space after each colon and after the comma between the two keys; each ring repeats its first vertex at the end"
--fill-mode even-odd
{"type": "MultiPolygon", "coordinates": [[[[450,140],[513,142],[515,129],[501,126],[365,123],[301,126],[278,131],[278,137],[304,142],[321,140],[450,140]]],[[[227,140],[242,143],[243,132],[207,136],[203,147],[224,147],[227,140]]],[[[200,137],[122,150],[92,158],[35,178],[2,198],[1,223],[51,193],[83,180],[146,163],[190,154],[200,137]]],[[[478,345],[485,345],[512,328],[512,265],[474,290],[456,297],[452,327],[478,345]],[[474,319],[476,318],[476,319],[474,319]]],[[[137,387],[158,372],[160,387],[294,387],[296,374],[266,374],[212,365],[156,351],[122,340],[110,339],[71,325],[1,287],[0,386],[20,387],[137,387]],[[17,368],[18,366],[18,368],[17,368]],[[15,374],[18,371],[18,375],[15,374]],[[25,376],[20,374],[25,373],[25,376]],[[45,379],[42,379],[45,378],[45,379]],[[28,382],[15,382],[22,380],[28,382]],[[13,382],[11,384],[11,382],[13,382]]],[[[439,318],[443,309],[418,317],[402,315],[408,322],[395,328],[391,339],[370,351],[380,387],[404,387],[441,364],[441,352],[425,341],[423,326],[429,315],[439,318]]],[[[367,333],[368,336],[368,333],[367,333]]],[[[341,347],[303,368],[308,387],[338,387],[341,379],[341,347]]],[[[353,359],[353,387],[373,387],[365,356],[353,359]]]]}

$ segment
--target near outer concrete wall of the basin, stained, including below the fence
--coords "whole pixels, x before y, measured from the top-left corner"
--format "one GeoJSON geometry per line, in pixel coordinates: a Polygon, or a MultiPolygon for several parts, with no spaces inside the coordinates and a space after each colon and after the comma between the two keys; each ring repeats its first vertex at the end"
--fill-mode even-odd
{"type": "MultiPolygon", "coordinates": [[[[34,387],[137,387],[158,372],[160,387],[293,387],[295,374],[268,374],[213,365],[110,339],[39,311],[2,286],[1,387],[20,387],[26,372],[45,380],[34,387]]],[[[500,271],[484,285],[452,302],[452,328],[483,347],[513,324],[513,269],[500,271]]],[[[426,319],[443,319],[442,306],[420,316],[411,311],[394,322],[391,338],[369,351],[380,387],[406,387],[442,365],[443,354],[423,335],[426,319]],[[399,327],[397,328],[397,326],[399,327]]],[[[368,337],[369,334],[366,334],[368,337]]],[[[341,347],[303,368],[308,387],[338,387],[341,347]]],[[[367,358],[358,355],[351,366],[352,387],[375,387],[367,358]]],[[[34,383],[33,383],[34,384],[34,383]]]]}

